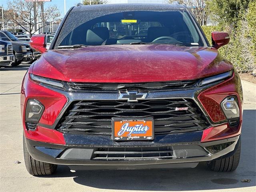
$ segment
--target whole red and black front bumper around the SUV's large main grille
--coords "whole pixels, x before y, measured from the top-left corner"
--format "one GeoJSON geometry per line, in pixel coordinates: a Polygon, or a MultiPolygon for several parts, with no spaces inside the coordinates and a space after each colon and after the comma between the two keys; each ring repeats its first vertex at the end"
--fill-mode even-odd
{"type": "MultiPolygon", "coordinates": [[[[71,134],[59,132],[56,128],[72,102],[77,100],[118,100],[118,93],[69,92],[45,84],[35,83],[27,74],[24,78],[21,92],[21,111],[28,152],[34,159],[42,162],[69,166],[100,166],[101,169],[105,169],[105,166],[114,169],[133,168],[134,166],[136,169],[147,166],[155,168],[159,166],[165,167],[167,164],[180,166],[181,163],[186,164],[182,166],[184,168],[194,167],[198,162],[211,161],[232,153],[241,133],[242,110],[240,111],[239,125],[230,127],[220,108],[220,102],[229,95],[236,95],[242,101],[240,83],[236,78],[237,76],[233,75],[222,82],[192,89],[148,92],[146,99],[152,100],[162,98],[193,99],[207,118],[209,122],[208,128],[192,132],[156,135],[152,142],[114,142],[110,136],[71,134]],[[45,107],[36,130],[27,130],[24,123],[26,103],[30,98],[38,99],[45,107]],[[205,103],[210,103],[211,106],[204,107],[205,103]],[[214,112],[215,116],[209,115],[209,112],[214,112]],[[232,142],[232,144],[226,148],[221,148],[222,150],[216,153],[206,150],[207,146],[227,142],[232,142]],[[138,148],[142,146],[170,146],[174,155],[168,159],[96,160],[94,158],[94,151],[99,148],[138,148]]],[[[241,109],[241,102],[239,106],[241,109]]],[[[72,169],[80,168],[72,167],[72,169]]]]}

